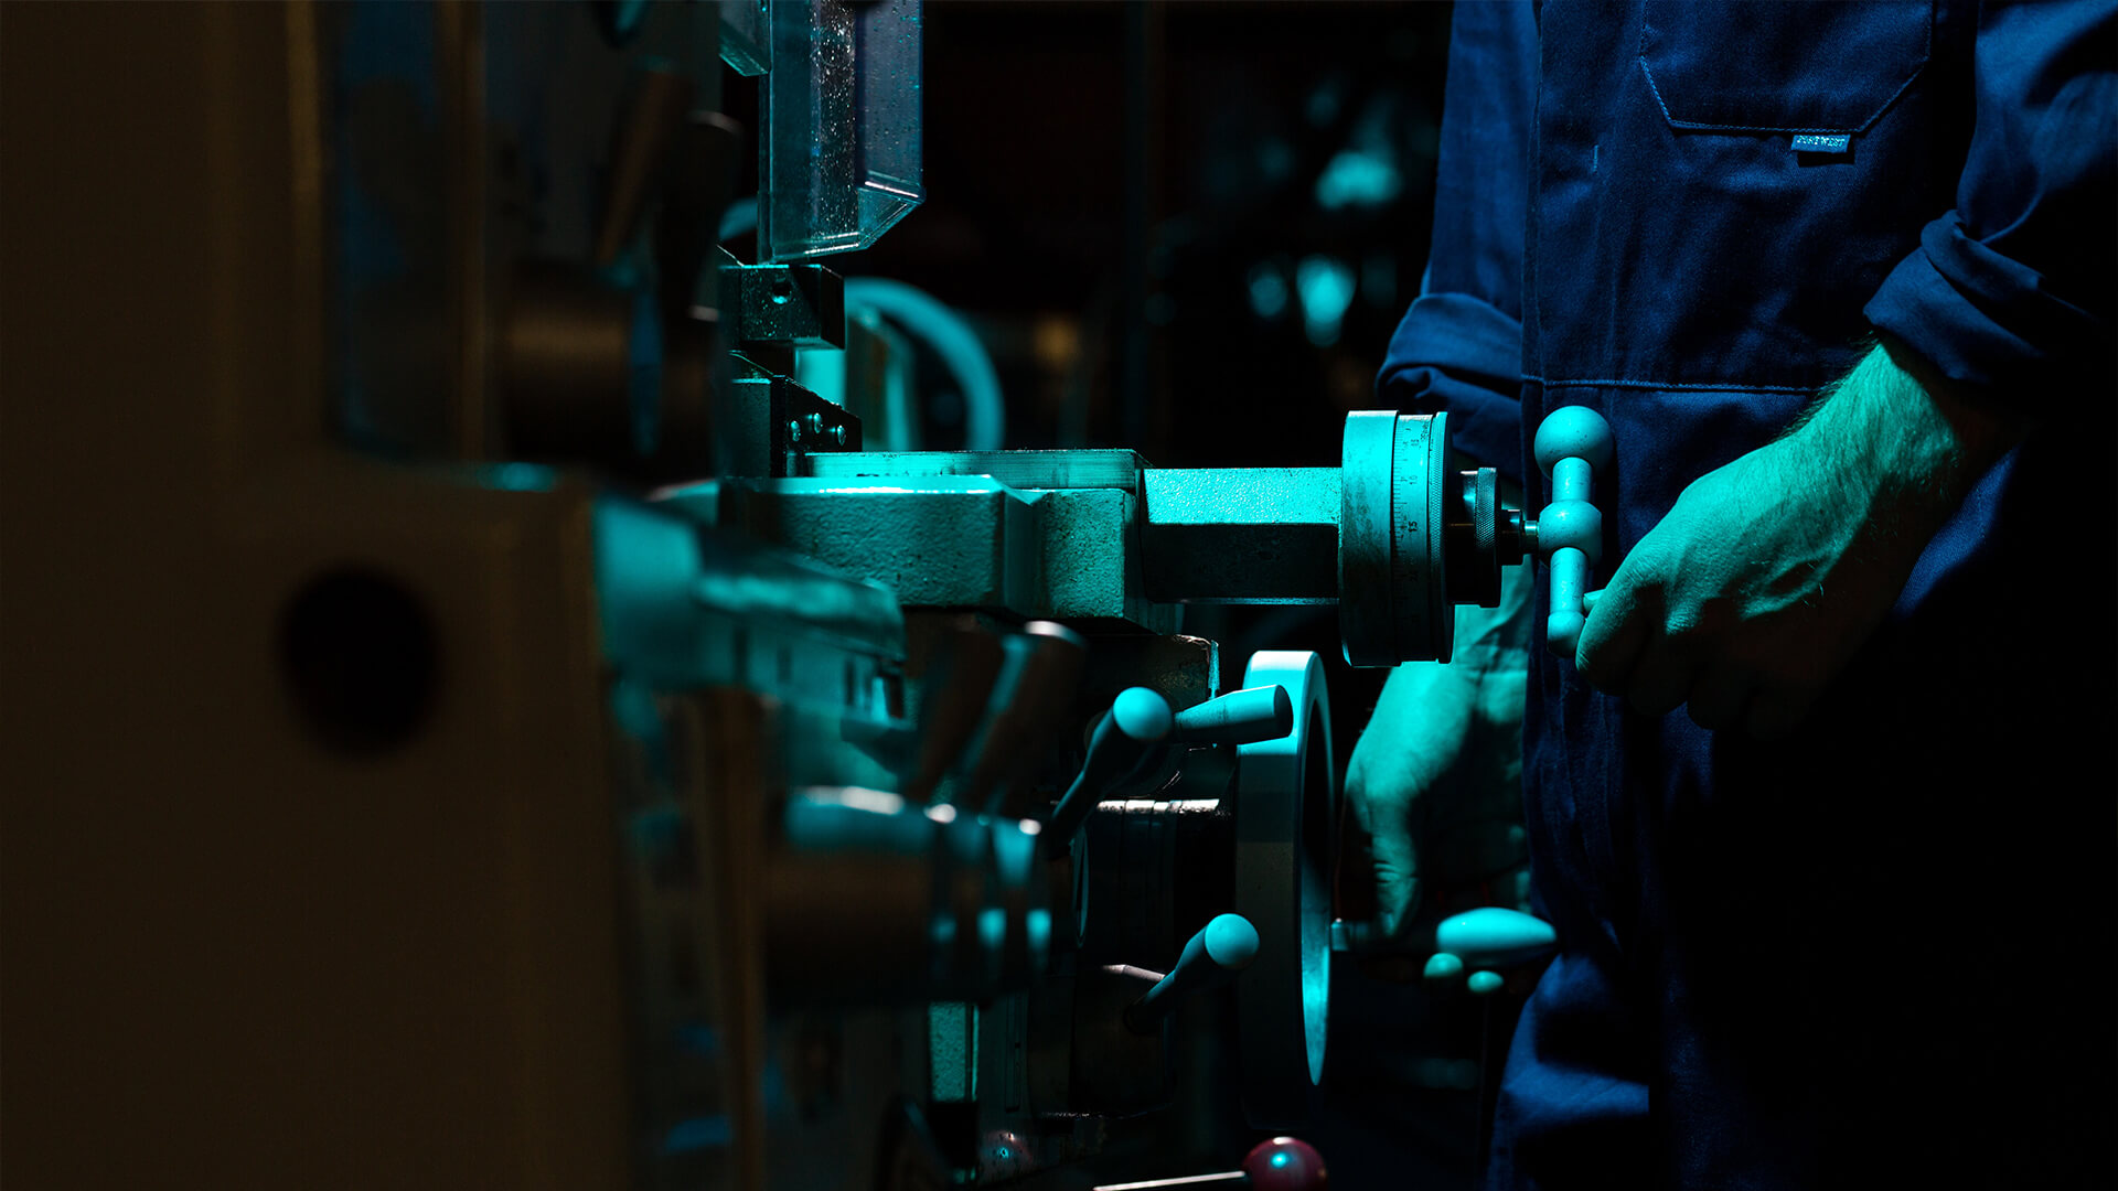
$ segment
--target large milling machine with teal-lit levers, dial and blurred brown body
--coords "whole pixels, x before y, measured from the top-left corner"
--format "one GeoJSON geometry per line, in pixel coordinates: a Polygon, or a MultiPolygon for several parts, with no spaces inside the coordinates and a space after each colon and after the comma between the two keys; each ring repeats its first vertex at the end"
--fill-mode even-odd
{"type": "Polygon", "coordinates": [[[1209,1081],[1300,1125],[1328,691],[1184,608],[1444,661],[1538,532],[1440,415],[1353,413],[1339,468],[864,449],[907,445],[902,343],[820,261],[921,201],[919,19],[8,13],[11,371],[85,394],[11,403],[8,506],[80,526],[97,460],[127,513],[8,545],[68,574],[11,587],[53,642],[8,661],[53,795],[6,863],[51,956],[8,975],[25,1183],[1118,1178],[1209,1081]]]}

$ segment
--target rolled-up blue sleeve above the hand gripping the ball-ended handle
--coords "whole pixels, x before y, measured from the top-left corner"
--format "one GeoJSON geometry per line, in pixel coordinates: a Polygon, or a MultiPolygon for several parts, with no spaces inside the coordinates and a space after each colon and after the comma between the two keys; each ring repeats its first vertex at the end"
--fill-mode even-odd
{"type": "Polygon", "coordinates": [[[2118,273],[2118,2],[1985,4],[1957,208],[1866,316],[2031,415],[2110,398],[2118,273]]]}

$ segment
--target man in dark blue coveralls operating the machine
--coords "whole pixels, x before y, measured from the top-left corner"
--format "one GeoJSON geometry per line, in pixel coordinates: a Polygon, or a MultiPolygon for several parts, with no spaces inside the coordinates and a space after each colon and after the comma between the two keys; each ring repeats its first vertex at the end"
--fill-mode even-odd
{"type": "Polygon", "coordinates": [[[1521,774],[1493,1187],[2118,1185],[2114,176],[2112,0],[1457,6],[1383,405],[1616,445],[1347,780],[1402,930],[1521,774]]]}

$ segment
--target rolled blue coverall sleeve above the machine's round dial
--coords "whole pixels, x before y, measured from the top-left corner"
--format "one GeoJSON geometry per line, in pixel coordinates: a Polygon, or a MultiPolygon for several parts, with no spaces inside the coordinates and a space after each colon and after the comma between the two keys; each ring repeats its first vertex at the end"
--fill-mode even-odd
{"type": "Polygon", "coordinates": [[[1514,481],[1536,70],[1527,2],[1455,6],[1428,271],[1375,379],[1387,407],[1447,411],[1451,445],[1514,481]]]}

